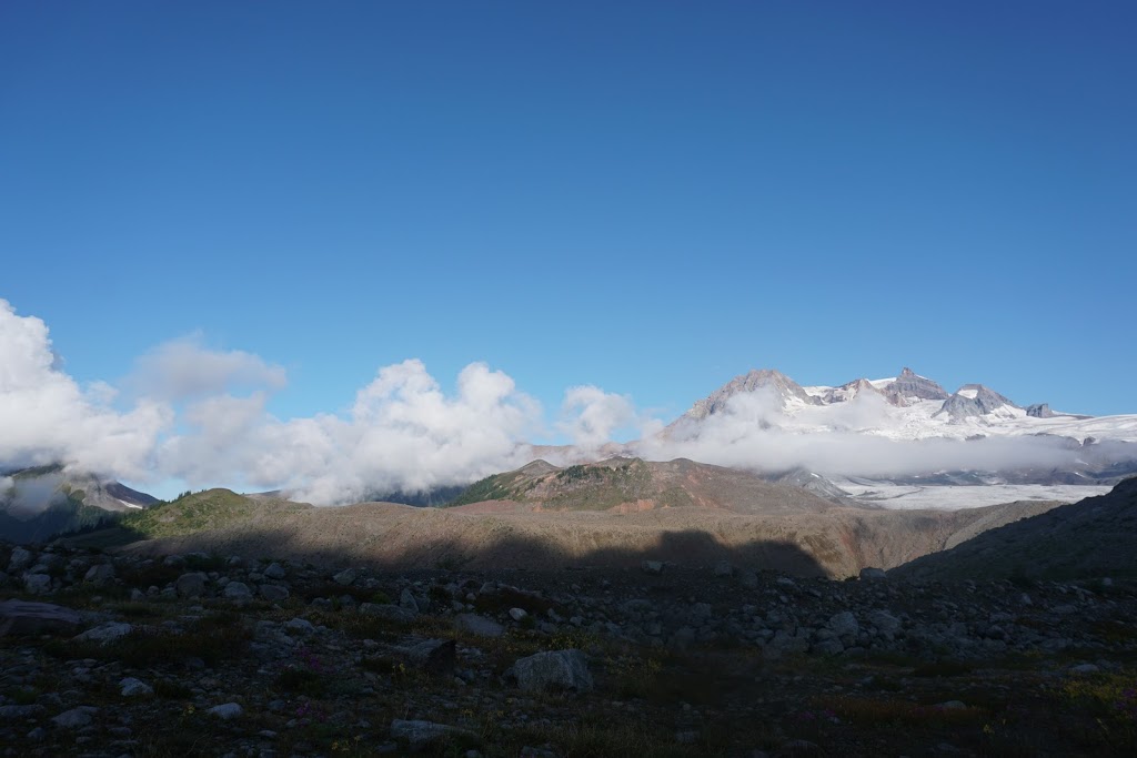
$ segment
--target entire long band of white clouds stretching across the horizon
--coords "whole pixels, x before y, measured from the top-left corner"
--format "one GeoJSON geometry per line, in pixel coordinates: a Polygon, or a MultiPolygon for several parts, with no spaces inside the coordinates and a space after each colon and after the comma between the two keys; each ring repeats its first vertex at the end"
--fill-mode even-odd
{"type": "Polygon", "coordinates": [[[342,413],[289,419],[268,413],[288,384],[282,367],[240,350],[211,350],[200,335],[147,352],[117,389],[81,386],[59,363],[47,325],[0,300],[0,475],[64,463],[138,483],[284,489],[341,503],[515,468],[534,457],[528,440],[550,431],[574,445],[564,459],[604,455],[613,435],[624,433],[641,440],[624,449],[645,458],[767,473],[890,477],[1132,458],[1132,445],[1082,448],[1064,438],[893,441],[873,433],[890,423],[889,409],[868,393],[798,415],[797,423],[823,423],[823,431],[785,431],[779,398],[757,391],[736,395],[697,427],[659,434],[662,422],[630,397],[594,385],[566,390],[549,425],[540,403],[481,363],[462,369],[451,393],[420,360],[385,366],[342,413]]]}

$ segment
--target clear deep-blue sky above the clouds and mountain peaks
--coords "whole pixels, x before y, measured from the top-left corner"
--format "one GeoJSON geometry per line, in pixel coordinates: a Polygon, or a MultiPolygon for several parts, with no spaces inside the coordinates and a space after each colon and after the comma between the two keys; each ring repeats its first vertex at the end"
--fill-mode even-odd
{"type": "Polygon", "coordinates": [[[556,408],[736,374],[1137,411],[1132,2],[5,2],[0,298],[280,417],[474,360],[556,408]]]}

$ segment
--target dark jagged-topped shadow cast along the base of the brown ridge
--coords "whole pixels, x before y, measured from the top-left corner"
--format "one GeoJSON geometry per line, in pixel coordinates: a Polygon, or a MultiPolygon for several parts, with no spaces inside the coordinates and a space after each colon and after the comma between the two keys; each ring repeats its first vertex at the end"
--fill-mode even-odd
{"type": "MultiPolygon", "coordinates": [[[[780,570],[797,576],[833,575],[814,556],[796,544],[754,541],[727,545],[698,530],[661,532],[649,544],[566,549],[545,540],[517,534],[503,535],[472,547],[460,540],[425,534],[414,543],[395,545],[389,535],[360,533],[354,542],[313,544],[296,530],[260,527],[240,533],[199,534],[126,543],[119,535],[105,547],[141,555],[207,552],[249,559],[293,559],[322,566],[370,565],[389,570],[471,569],[534,570],[636,568],[644,561],[664,561],[683,567],[713,566],[724,560],[736,568],[780,570]],[[377,539],[372,539],[377,538],[377,539]]],[[[83,541],[73,541],[84,547],[83,541]]],[[[88,545],[90,547],[90,545],[88,545]]]]}

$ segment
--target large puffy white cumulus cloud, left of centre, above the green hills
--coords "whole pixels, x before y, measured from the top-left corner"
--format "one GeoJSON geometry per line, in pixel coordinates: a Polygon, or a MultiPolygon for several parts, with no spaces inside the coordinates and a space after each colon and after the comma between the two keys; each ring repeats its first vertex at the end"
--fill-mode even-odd
{"type": "Polygon", "coordinates": [[[522,440],[540,406],[484,364],[458,375],[454,395],[420,360],[381,368],[347,417],[277,420],[263,394],[190,406],[190,430],[161,447],[163,468],[191,482],[240,476],[313,502],[464,484],[528,461],[522,440]]]}

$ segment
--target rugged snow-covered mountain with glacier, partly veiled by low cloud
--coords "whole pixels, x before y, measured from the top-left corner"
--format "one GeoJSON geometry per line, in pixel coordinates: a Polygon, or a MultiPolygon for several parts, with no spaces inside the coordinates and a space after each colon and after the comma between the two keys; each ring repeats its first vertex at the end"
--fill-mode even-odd
{"type": "Polygon", "coordinates": [[[910,368],[836,386],[802,386],[765,369],[731,380],[628,447],[804,476],[894,508],[1069,501],[1137,474],[1137,415],[1022,407],[982,384],[948,392],[910,368]]]}

